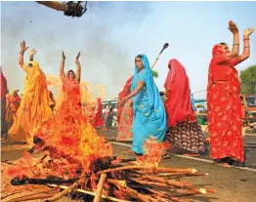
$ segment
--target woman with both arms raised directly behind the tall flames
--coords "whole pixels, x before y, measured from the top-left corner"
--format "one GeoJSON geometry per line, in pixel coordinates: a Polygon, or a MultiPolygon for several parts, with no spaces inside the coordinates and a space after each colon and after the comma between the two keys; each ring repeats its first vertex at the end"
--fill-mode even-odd
{"type": "Polygon", "coordinates": [[[63,106],[66,107],[75,107],[81,108],[81,95],[80,95],[80,77],[81,77],[81,65],[78,61],[80,57],[80,52],[75,58],[76,64],[76,73],[73,70],[68,70],[64,74],[64,52],[63,52],[63,61],[60,66],[60,75],[63,81],[63,91],[64,91],[64,101],[63,106]]]}

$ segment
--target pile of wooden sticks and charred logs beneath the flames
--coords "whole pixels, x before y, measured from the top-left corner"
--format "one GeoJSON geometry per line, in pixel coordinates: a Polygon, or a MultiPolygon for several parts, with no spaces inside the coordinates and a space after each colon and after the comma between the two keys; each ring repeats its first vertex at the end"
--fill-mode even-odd
{"type": "Polygon", "coordinates": [[[181,181],[181,178],[185,177],[208,175],[197,172],[195,169],[149,167],[138,165],[136,159],[116,157],[98,159],[92,165],[92,172],[77,179],[31,179],[24,176],[15,178],[12,180],[13,185],[45,185],[47,194],[41,192],[34,196],[30,194],[16,199],[12,195],[12,200],[9,200],[10,196],[7,196],[2,197],[1,201],[26,201],[31,198],[43,198],[45,202],[50,202],[69,195],[71,198],[93,202],[190,202],[192,200],[188,199],[188,195],[215,193],[214,189],[196,187],[189,182],[181,181]],[[186,198],[184,198],[185,196],[186,198]]]}

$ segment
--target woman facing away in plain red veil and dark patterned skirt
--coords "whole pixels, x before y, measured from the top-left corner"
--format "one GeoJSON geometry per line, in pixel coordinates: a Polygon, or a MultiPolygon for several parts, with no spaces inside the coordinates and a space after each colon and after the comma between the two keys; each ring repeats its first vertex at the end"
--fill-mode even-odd
{"type": "Polygon", "coordinates": [[[184,66],[176,59],[169,61],[168,67],[164,87],[169,130],[165,139],[173,146],[198,153],[203,149],[203,135],[192,110],[189,78],[184,66]]]}

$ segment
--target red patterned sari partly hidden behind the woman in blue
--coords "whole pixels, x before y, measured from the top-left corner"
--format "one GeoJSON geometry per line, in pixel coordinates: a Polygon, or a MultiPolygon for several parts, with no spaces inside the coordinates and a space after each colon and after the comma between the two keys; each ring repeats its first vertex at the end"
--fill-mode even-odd
{"type": "Polygon", "coordinates": [[[132,79],[133,79],[133,76],[126,81],[126,84],[123,90],[118,94],[118,108],[117,108],[118,128],[117,128],[116,141],[132,141],[133,140],[132,99],[130,99],[129,101],[126,101],[123,106],[120,105],[120,101],[122,101],[125,97],[127,97],[131,93],[132,79]]]}

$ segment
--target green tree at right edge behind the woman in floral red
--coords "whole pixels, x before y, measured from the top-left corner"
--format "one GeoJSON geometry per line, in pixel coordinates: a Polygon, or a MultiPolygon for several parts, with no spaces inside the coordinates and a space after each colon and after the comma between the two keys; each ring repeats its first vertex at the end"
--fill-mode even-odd
{"type": "Polygon", "coordinates": [[[240,71],[242,94],[256,94],[256,64],[240,71]]]}

